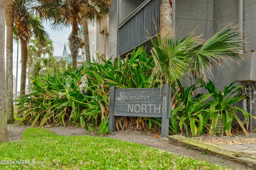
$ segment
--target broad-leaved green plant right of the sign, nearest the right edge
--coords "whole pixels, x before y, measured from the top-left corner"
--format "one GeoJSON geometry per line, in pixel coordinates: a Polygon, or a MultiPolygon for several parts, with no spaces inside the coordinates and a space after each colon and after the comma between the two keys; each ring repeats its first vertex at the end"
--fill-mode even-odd
{"type": "Polygon", "coordinates": [[[211,80],[208,80],[207,84],[202,83],[202,87],[208,90],[209,93],[212,94],[213,102],[215,103],[215,109],[219,111],[211,112],[210,119],[211,126],[208,129],[210,135],[213,135],[215,132],[216,123],[218,121],[218,114],[223,121],[224,129],[223,132],[226,133],[228,136],[232,136],[231,133],[231,124],[233,119],[236,119],[244,133],[249,136],[248,134],[248,125],[249,125],[249,115],[255,118],[255,116],[251,115],[250,113],[246,112],[244,109],[238,106],[233,106],[236,102],[246,98],[246,95],[241,95],[242,86],[234,86],[235,82],[232,82],[229,86],[225,86],[223,91],[218,91],[211,80]],[[246,118],[246,128],[244,127],[242,121],[239,119],[237,113],[241,111],[246,118]]]}

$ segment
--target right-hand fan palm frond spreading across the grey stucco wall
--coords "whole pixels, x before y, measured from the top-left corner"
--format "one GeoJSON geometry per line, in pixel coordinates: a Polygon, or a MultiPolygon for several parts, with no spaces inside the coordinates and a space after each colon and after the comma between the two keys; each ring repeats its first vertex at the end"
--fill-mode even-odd
{"type": "Polygon", "coordinates": [[[238,60],[245,59],[243,53],[240,52],[244,40],[239,36],[240,32],[237,25],[226,29],[228,26],[220,29],[205,43],[198,43],[192,49],[190,66],[194,78],[206,80],[206,72],[212,75],[211,69],[213,66],[221,65],[223,62],[228,63],[227,60],[238,63],[238,60]]]}

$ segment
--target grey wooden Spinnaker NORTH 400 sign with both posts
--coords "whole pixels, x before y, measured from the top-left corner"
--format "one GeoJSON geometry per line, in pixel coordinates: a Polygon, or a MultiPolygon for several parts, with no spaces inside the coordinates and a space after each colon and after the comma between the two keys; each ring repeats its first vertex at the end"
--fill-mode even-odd
{"type": "Polygon", "coordinates": [[[115,130],[115,116],[161,117],[161,137],[168,136],[171,88],[110,88],[109,132],[115,130]]]}

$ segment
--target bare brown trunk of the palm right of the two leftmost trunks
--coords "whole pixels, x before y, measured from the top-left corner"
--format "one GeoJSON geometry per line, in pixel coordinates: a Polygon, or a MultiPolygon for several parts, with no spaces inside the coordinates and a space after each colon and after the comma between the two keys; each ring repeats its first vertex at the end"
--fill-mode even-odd
{"type": "Polygon", "coordinates": [[[26,69],[28,60],[28,43],[24,39],[20,39],[21,47],[21,76],[20,76],[20,96],[25,94],[26,89],[26,69]]]}

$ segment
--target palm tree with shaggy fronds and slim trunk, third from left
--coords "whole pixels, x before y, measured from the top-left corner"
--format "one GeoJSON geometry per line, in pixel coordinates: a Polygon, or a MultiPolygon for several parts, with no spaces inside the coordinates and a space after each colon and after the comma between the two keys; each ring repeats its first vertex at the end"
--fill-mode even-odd
{"type": "Polygon", "coordinates": [[[63,0],[14,0],[14,34],[20,39],[21,45],[21,82],[20,95],[24,95],[26,88],[26,65],[28,58],[28,42],[32,35],[41,43],[46,44],[48,34],[44,30],[41,20],[52,22],[52,27],[58,28],[65,25],[64,16],[68,15],[66,4],[63,0]]]}

